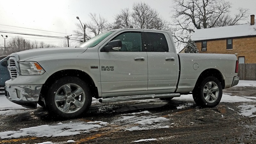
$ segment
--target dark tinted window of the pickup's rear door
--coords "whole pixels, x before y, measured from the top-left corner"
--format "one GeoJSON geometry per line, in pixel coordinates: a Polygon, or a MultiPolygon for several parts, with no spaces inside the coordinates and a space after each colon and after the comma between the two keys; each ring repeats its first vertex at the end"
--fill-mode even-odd
{"type": "Polygon", "coordinates": [[[168,44],[164,34],[145,32],[147,52],[168,52],[168,44]]]}

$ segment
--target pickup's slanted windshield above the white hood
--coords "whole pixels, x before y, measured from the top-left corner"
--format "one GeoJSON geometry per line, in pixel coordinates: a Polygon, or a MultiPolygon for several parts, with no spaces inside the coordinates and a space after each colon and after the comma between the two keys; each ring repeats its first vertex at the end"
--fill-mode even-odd
{"type": "Polygon", "coordinates": [[[112,34],[113,32],[115,32],[115,31],[107,31],[98,36],[95,36],[95,37],[89,39],[88,41],[86,41],[85,43],[81,44],[79,47],[94,47],[97,44],[99,44],[103,39],[105,39],[107,36],[112,34]]]}

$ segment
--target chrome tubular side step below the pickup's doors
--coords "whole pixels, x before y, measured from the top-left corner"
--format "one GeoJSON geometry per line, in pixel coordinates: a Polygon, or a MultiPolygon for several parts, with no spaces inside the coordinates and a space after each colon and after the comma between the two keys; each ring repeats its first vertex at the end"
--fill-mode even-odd
{"type": "Polygon", "coordinates": [[[159,99],[159,98],[174,98],[180,97],[180,93],[171,94],[149,94],[149,95],[135,95],[127,97],[113,97],[113,98],[102,98],[99,102],[115,102],[115,101],[129,101],[129,100],[147,100],[147,99],[159,99]]]}

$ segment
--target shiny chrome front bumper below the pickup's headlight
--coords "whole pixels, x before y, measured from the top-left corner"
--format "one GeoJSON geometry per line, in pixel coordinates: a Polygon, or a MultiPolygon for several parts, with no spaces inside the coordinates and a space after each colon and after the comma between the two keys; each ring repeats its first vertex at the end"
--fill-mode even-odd
{"type": "Polygon", "coordinates": [[[22,107],[36,109],[42,86],[42,84],[5,86],[5,96],[22,107]]]}

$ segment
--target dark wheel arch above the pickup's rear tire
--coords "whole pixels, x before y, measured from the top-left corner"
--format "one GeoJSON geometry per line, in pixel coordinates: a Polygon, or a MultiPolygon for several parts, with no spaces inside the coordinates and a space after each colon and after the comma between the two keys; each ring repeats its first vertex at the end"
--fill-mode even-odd
{"type": "Polygon", "coordinates": [[[208,76],[214,76],[216,77],[219,81],[220,84],[222,86],[222,89],[225,88],[225,80],[223,79],[223,76],[221,74],[221,72],[218,69],[215,68],[209,68],[209,69],[205,69],[198,77],[197,81],[196,81],[196,85],[200,82],[202,82],[202,80],[208,76]]]}

